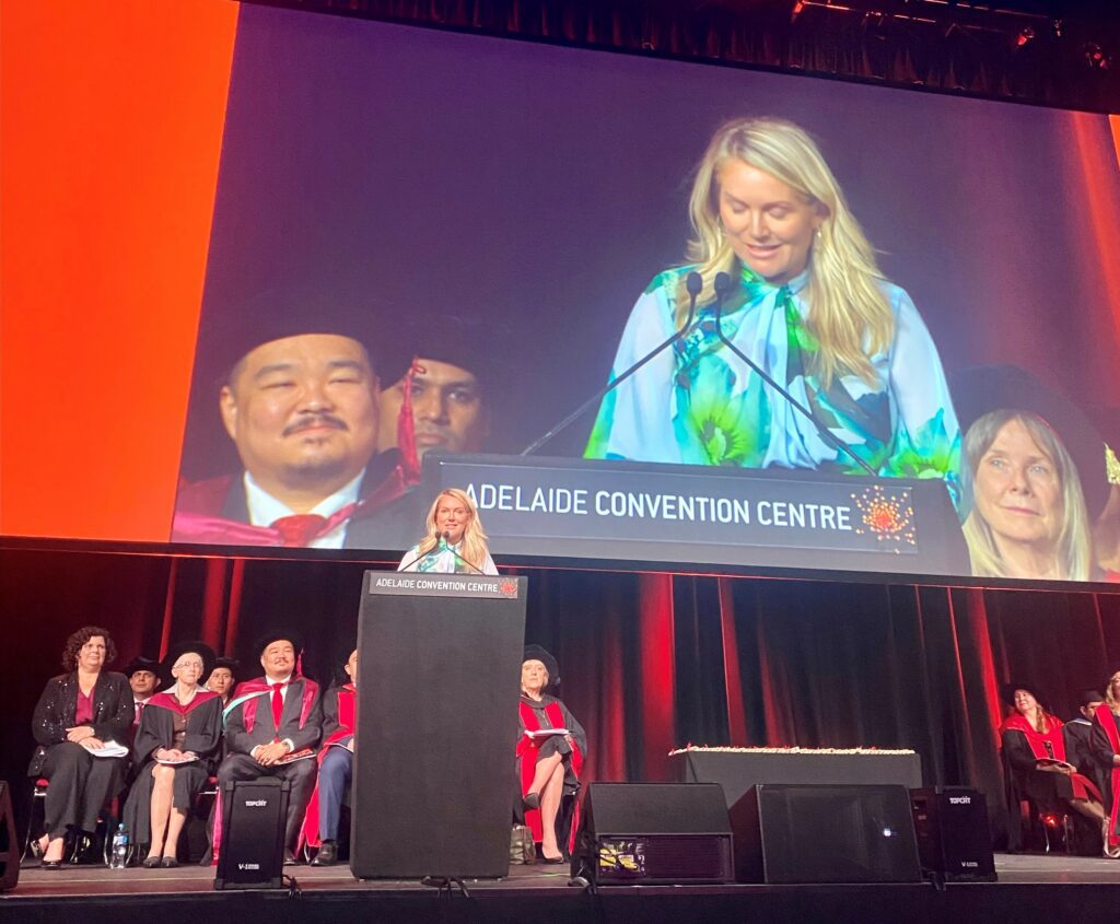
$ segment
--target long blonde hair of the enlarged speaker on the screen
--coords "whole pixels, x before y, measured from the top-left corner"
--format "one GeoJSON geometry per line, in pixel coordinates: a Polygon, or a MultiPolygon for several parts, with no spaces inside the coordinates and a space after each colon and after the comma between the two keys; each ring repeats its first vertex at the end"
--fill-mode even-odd
{"type": "MultiPolygon", "coordinates": [[[[808,133],[777,119],[736,119],[720,127],[697,167],[689,217],[694,236],[688,260],[697,263],[704,288],[717,273],[735,276],[731,244],[719,221],[719,174],[730,160],[741,160],[792,187],[823,222],[810,251],[806,326],[820,345],[814,372],[821,384],[846,372],[874,384],[869,355],[886,349],[895,335],[895,318],[879,289],[883,279],[875,252],[848,208],[840,184],[808,133]]],[[[687,293],[678,293],[683,319],[687,293]]]]}

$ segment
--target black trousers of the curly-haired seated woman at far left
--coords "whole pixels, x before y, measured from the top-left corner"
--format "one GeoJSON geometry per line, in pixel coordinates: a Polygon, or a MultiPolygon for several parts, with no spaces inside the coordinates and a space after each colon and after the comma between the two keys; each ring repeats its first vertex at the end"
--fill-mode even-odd
{"type": "Polygon", "coordinates": [[[92,832],[104,804],[124,785],[127,769],[123,757],[94,757],[73,741],[52,745],[40,774],[50,781],[44,810],[50,839],[63,837],[67,827],[92,832]]]}

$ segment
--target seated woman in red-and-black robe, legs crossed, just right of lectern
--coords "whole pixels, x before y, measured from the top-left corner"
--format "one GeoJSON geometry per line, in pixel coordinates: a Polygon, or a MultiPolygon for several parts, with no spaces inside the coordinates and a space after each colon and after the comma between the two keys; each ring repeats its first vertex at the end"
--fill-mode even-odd
{"type": "MultiPolygon", "coordinates": [[[[557,818],[566,794],[579,788],[587,756],[587,735],[567,706],[545,691],[560,681],[556,659],[539,645],[529,645],[521,665],[517,781],[525,824],[541,846],[547,864],[563,862],[557,818]]],[[[575,833],[577,821],[572,821],[575,833]]]]}

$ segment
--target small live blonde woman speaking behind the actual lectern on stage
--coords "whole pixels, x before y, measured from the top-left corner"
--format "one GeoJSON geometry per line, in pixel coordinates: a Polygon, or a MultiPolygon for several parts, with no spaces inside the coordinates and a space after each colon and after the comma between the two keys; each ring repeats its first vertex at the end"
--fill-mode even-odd
{"type": "Polygon", "coordinates": [[[496,575],[478,508],[465,491],[449,487],[428,511],[428,534],[404,553],[398,571],[496,575]]]}

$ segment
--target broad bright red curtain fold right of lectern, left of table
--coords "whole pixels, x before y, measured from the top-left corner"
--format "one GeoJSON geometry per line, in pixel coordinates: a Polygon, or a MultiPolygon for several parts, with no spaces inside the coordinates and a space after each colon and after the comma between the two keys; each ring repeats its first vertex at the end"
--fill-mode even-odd
{"type": "Polygon", "coordinates": [[[646,780],[665,780],[678,744],[673,702],[673,578],[642,575],[638,582],[642,664],[642,756],[646,780]]]}

